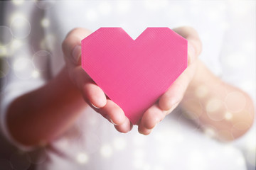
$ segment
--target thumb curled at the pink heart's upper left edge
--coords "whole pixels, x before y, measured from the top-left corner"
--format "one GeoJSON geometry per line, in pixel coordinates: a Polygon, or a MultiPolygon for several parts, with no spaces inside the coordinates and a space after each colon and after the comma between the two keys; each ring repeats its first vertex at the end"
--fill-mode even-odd
{"type": "Polygon", "coordinates": [[[85,28],[75,28],[68,33],[63,41],[62,49],[67,64],[80,64],[81,40],[90,35],[90,30],[85,28]]]}

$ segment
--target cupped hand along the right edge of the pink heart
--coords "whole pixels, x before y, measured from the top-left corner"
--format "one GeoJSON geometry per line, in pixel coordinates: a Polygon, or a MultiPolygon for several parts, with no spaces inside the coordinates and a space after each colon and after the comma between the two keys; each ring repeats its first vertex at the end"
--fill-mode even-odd
{"type": "Polygon", "coordinates": [[[166,115],[174,111],[181,102],[188,84],[193,79],[197,67],[197,58],[201,53],[202,45],[198,33],[191,27],[180,27],[173,29],[176,33],[188,40],[188,67],[174,81],[169,89],[143,114],[139,120],[138,130],[144,135],[149,135],[151,130],[164,119],[166,115]]]}

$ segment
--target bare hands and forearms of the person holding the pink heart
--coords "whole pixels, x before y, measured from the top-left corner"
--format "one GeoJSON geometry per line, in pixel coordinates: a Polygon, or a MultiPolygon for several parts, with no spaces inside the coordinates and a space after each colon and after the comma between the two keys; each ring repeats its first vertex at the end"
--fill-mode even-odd
{"type": "MultiPolygon", "coordinates": [[[[174,31],[188,40],[188,68],[144,113],[138,123],[139,132],[149,135],[156,124],[180,104],[188,115],[193,113],[193,117],[198,118],[201,127],[213,127],[220,140],[234,140],[245,134],[255,114],[250,97],[215,77],[198,60],[202,46],[196,30],[181,27],[174,31]],[[202,84],[204,95],[198,94],[202,84]],[[232,93],[242,98],[227,99],[227,95],[232,93]],[[213,99],[220,103],[217,104],[218,108],[213,99]],[[199,104],[195,104],[195,101],[199,104]],[[223,103],[228,108],[222,106],[223,103]],[[238,103],[245,103],[239,111],[238,103]],[[214,109],[218,112],[214,113],[214,109]],[[228,119],[225,119],[226,113],[228,119]]],[[[105,96],[80,65],[80,41],[90,33],[84,28],[71,30],[63,41],[66,65],[58,76],[11,103],[7,111],[7,126],[14,139],[21,144],[38,146],[51,142],[68,130],[89,106],[113,123],[119,132],[132,130],[132,123],[124,111],[105,96]]]]}

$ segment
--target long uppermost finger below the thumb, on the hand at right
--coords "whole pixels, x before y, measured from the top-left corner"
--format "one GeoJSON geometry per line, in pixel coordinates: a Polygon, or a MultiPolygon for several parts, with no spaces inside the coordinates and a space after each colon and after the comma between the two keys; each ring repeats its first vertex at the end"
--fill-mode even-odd
{"type": "MultiPolygon", "coordinates": [[[[179,77],[174,81],[169,89],[159,98],[159,108],[163,111],[173,111],[181,102],[189,82],[193,78],[193,72],[196,62],[191,64],[179,77]]],[[[169,112],[170,113],[170,112],[169,112]]]]}

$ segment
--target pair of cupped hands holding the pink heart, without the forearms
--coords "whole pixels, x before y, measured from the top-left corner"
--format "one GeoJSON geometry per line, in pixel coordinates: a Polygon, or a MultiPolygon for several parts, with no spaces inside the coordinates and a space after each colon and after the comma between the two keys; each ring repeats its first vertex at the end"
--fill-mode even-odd
{"type": "MultiPolygon", "coordinates": [[[[148,135],[154,126],[164,119],[166,114],[171,113],[178,106],[196,70],[196,58],[201,52],[201,41],[198,34],[189,27],[176,28],[174,31],[188,40],[188,68],[171,84],[166,93],[142,115],[137,124],[139,125],[139,132],[144,135],[148,135]]],[[[132,123],[124,115],[124,111],[105,96],[102,89],[81,67],[80,43],[87,35],[90,35],[90,31],[76,28],[70,31],[63,41],[63,53],[70,79],[80,89],[85,101],[95,111],[113,123],[119,132],[129,132],[132,129],[132,123]]]]}

